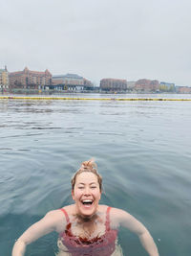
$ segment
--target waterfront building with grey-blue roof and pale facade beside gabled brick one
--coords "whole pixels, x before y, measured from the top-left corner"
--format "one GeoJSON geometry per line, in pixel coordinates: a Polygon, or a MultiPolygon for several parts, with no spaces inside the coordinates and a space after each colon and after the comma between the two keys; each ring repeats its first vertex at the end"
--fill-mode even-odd
{"type": "Polygon", "coordinates": [[[84,79],[77,74],[54,75],[53,89],[68,91],[83,91],[94,87],[91,81],[84,79]]]}

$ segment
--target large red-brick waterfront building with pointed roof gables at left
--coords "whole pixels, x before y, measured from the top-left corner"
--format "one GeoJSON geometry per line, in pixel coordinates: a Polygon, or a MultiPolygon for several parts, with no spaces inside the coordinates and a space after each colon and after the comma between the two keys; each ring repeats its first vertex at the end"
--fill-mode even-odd
{"type": "Polygon", "coordinates": [[[52,74],[48,69],[45,72],[31,71],[27,67],[23,71],[9,73],[11,88],[41,89],[52,84],[52,74]]]}

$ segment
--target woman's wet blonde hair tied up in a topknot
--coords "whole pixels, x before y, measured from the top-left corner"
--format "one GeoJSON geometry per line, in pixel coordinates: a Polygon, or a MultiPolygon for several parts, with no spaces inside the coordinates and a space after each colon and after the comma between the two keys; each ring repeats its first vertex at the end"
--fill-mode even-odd
{"type": "Polygon", "coordinates": [[[94,161],[94,159],[90,159],[89,161],[85,161],[81,164],[81,167],[79,168],[79,170],[77,170],[71,180],[71,184],[72,184],[72,190],[74,190],[74,184],[75,184],[75,181],[76,181],[76,177],[77,175],[80,175],[81,173],[92,173],[94,175],[96,175],[97,177],[97,181],[98,181],[98,184],[99,184],[99,189],[100,189],[100,192],[102,191],[102,177],[101,175],[99,175],[97,173],[97,166],[96,166],[96,163],[94,161]]]}

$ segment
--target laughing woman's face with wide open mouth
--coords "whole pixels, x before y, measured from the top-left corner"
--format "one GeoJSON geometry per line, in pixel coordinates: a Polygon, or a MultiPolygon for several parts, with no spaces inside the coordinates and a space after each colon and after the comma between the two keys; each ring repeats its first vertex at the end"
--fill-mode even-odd
{"type": "Polygon", "coordinates": [[[91,172],[77,175],[72,196],[78,215],[85,218],[93,216],[101,198],[97,176],[91,172]]]}

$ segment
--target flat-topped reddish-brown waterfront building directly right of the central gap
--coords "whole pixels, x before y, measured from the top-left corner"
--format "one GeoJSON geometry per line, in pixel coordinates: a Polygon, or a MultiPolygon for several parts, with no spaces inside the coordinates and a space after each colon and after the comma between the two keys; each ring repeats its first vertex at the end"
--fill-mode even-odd
{"type": "Polygon", "coordinates": [[[127,81],[119,79],[102,79],[100,81],[102,91],[123,92],[127,90],[127,81]]]}

